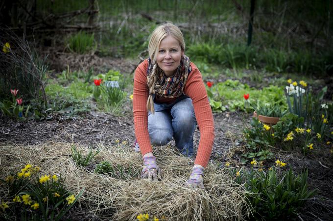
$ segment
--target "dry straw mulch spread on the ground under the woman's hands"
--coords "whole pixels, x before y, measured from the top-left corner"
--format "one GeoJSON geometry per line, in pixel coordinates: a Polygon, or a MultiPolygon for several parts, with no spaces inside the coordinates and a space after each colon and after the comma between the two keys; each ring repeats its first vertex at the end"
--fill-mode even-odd
{"type": "MultiPolygon", "coordinates": [[[[246,207],[244,191],[228,179],[225,171],[210,164],[205,171],[205,189],[185,185],[193,162],[179,156],[172,148],[154,150],[163,171],[162,181],[140,180],[138,176],[115,179],[108,174],[95,174],[92,167],[78,167],[71,158],[71,143],[48,142],[42,145],[0,144],[0,178],[17,171],[26,163],[41,168],[41,174],[61,174],[68,190],[77,194],[85,191],[79,202],[100,219],[133,220],[139,213],[166,220],[241,220],[246,207]],[[242,214],[243,212],[243,214],[242,214]]],[[[76,148],[88,149],[76,145],[76,148]]],[[[142,169],[141,154],[129,146],[98,144],[98,161],[142,169]]],[[[1,190],[0,190],[1,191],[1,190]]],[[[1,191],[2,192],[2,191],[1,191]]],[[[3,196],[5,193],[1,193],[3,196]]],[[[246,213],[246,212],[245,212],[246,213]]]]}

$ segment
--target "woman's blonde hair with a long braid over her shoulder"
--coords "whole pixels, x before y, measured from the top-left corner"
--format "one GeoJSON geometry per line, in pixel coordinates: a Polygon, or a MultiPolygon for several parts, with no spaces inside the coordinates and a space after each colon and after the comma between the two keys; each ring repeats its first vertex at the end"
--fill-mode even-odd
{"type": "Polygon", "coordinates": [[[156,27],[155,30],[151,33],[149,37],[149,44],[148,44],[148,54],[149,58],[151,60],[151,64],[153,66],[152,71],[150,73],[150,78],[148,83],[148,88],[149,88],[149,96],[147,100],[147,109],[150,110],[151,113],[155,113],[154,109],[154,101],[152,97],[152,93],[155,87],[155,83],[157,80],[157,73],[160,70],[160,68],[157,65],[156,62],[156,55],[159,51],[159,47],[161,44],[161,41],[165,39],[167,36],[171,36],[178,40],[181,51],[185,51],[185,41],[182,32],[180,29],[172,24],[171,22],[167,21],[161,24],[160,26],[156,27]]]}

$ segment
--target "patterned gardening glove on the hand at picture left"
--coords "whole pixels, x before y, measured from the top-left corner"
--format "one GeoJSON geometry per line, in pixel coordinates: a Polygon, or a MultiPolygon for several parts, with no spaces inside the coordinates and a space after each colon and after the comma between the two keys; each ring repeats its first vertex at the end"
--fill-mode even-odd
{"type": "Polygon", "coordinates": [[[143,169],[141,171],[141,179],[149,181],[158,181],[157,176],[161,174],[161,169],[156,164],[155,156],[143,157],[143,169]]]}

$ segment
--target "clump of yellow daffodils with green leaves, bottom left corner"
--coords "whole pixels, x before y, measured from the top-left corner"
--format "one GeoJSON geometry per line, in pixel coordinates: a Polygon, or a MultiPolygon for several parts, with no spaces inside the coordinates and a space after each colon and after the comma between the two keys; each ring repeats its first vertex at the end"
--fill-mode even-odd
{"type": "Polygon", "coordinates": [[[54,220],[59,221],[81,197],[67,191],[65,180],[57,175],[40,176],[39,167],[25,165],[21,172],[12,173],[5,180],[8,194],[2,196],[8,209],[0,213],[5,220],[54,220]]]}

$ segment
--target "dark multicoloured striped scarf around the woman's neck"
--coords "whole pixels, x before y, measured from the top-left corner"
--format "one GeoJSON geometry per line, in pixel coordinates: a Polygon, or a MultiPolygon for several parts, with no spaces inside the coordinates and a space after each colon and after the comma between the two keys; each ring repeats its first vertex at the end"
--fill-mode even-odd
{"type": "MultiPolygon", "coordinates": [[[[149,82],[150,74],[153,70],[153,64],[148,59],[147,82],[149,82]]],[[[158,95],[163,98],[177,98],[183,94],[186,80],[191,72],[190,59],[186,55],[180,60],[180,64],[176,73],[171,77],[166,77],[163,71],[157,67],[157,80],[153,93],[149,95],[158,95]]]]}

